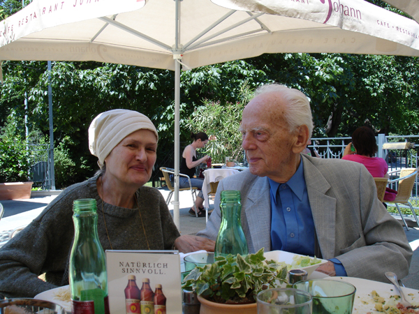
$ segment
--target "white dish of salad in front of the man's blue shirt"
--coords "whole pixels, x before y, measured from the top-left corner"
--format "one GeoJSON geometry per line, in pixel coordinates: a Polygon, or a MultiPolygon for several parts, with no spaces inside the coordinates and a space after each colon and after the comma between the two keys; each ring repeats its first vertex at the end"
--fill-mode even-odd
{"type": "Polygon", "coordinates": [[[309,257],[307,255],[300,255],[289,253],[286,251],[270,251],[263,253],[267,260],[274,260],[275,262],[284,262],[288,271],[291,269],[304,269],[307,271],[308,277],[317,269],[321,264],[328,262],[316,257],[309,257]]]}

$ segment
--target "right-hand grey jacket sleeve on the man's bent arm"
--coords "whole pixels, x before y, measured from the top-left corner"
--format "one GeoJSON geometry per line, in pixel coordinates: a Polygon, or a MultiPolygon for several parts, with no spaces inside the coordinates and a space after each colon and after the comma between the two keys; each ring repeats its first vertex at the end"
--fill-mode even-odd
{"type": "Polygon", "coordinates": [[[336,257],[351,277],[387,282],[385,271],[393,271],[404,278],[413,253],[403,227],[379,202],[374,179],[365,167],[360,167],[359,178],[360,207],[353,215],[360,215],[362,230],[356,241],[335,252],[336,257]]]}

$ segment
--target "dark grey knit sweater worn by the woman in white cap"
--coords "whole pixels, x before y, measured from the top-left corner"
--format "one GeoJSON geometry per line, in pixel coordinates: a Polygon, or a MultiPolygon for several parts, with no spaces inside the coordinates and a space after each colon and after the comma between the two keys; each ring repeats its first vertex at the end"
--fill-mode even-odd
{"type": "MultiPolygon", "coordinates": [[[[179,232],[159,190],[137,191],[138,208],[103,203],[109,238],[103,222],[102,200],[93,177],[66,188],[22,232],[0,249],[0,294],[34,297],[68,285],[68,257],[74,237],[73,200],[94,198],[98,207],[98,234],[104,250],[170,250],[179,232]],[[145,239],[147,234],[147,241],[145,239]],[[47,282],[38,278],[45,273],[47,282]]],[[[94,261],[92,261],[94,262],[94,261]]]]}

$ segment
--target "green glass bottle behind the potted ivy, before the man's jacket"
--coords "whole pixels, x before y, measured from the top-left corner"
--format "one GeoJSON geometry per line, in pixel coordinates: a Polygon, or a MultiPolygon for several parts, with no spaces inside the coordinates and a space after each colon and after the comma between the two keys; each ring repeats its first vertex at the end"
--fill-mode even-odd
{"type": "Polygon", "coordinates": [[[221,191],[221,225],[215,242],[215,256],[249,254],[240,218],[242,214],[240,200],[240,190],[221,191]]]}

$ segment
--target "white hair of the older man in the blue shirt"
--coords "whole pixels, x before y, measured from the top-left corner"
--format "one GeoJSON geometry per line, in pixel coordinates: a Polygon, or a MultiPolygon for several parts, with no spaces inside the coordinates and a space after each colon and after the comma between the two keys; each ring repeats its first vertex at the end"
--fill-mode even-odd
{"type": "Polygon", "coordinates": [[[261,94],[279,92],[286,100],[286,111],[284,118],[288,123],[290,132],[293,133],[299,126],[306,125],[309,128],[309,138],[313,132],[313,117],[311,117],[310,102],[298,89],[290,89],[281,84],[262,85],[256,89],[254,96],[261,94]]]}

